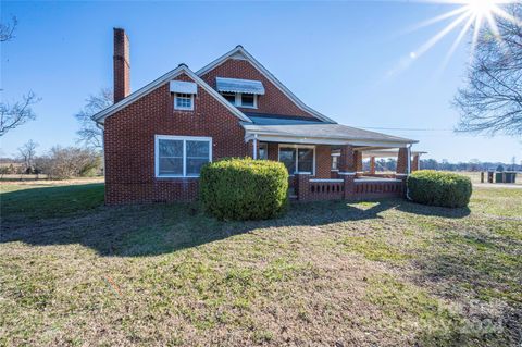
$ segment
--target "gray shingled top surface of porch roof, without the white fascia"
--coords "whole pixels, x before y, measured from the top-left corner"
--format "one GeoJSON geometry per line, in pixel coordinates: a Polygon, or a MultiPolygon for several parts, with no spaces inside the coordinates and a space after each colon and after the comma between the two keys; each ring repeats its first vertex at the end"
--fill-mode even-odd
{"type": "Polygon", "coordinates": [[[386,142],[414,144],[417,140],[409,138],[386,135],[376,132],[369,132],[357,127],[346,126],[341,124],[315,123],[315,124],[278,124],[278,125],[261,125],[243,123],[247,133],[262,134],[282,137],[307,137],[323,139],[341,139],[341,140],[370,140],[386,142]]]}

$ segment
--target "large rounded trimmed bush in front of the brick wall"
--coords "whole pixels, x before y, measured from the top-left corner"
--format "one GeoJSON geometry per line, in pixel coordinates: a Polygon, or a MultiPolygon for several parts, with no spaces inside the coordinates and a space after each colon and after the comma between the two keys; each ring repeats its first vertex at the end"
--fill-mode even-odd
{"type": "Polygon", "coordinates": [[[201,169],[199,195],[206,211],[220,220],[264,220],[282,213],[288,201],[283,163],[232,158],[201,169]]]}

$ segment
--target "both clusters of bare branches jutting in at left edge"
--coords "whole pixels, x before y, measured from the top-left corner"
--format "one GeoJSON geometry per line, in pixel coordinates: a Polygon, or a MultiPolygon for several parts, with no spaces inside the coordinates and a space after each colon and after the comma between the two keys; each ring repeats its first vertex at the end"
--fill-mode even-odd
{"type": "MultiPolygon", "coordinates": [[[[18,22],[13,16],[12,23],[0,23],[0,42],[10,41],[14,38],[14,29],[18,22]]],[[[36,115],[32,110],[32,106],[38,102],[39,99],[33,91],[22,97],[21,101],[14,103],[0,102],[0,136],[3,136],[9,131],[20,126],[28,121],[33,121],[36,115]]]]}

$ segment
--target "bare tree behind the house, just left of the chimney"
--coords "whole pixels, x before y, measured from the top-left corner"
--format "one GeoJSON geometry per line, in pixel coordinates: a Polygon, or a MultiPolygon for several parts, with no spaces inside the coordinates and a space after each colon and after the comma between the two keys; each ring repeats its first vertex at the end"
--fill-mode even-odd
{"type": "Polygon", "coordinates": [[[90,95],[85,101],[86,104],[74,116],[79,122],[78,142],[94,149],[102,149],[102,131],[92,121],[92,115],[107,109],[112,104],[112,90],[102,88],[97,95],[90,95]]]}

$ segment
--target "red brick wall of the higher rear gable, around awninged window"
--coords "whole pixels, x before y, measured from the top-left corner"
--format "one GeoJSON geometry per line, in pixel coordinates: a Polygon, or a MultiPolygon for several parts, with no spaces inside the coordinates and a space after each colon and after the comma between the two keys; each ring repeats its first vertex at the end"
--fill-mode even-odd
{"type": "Polygon", "coordinates": [[[264,77],[256,67],[246,60],[228,59],[221,65],[206,73],[201,78],[215,89],[215,77],[243,78],[261,80],[265,94],[258,97],[257,109],[239,108],[244,112],[259,112],[285,115],[299,115],[314,117],[298,108],[275,85],[264,77]]]}

